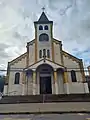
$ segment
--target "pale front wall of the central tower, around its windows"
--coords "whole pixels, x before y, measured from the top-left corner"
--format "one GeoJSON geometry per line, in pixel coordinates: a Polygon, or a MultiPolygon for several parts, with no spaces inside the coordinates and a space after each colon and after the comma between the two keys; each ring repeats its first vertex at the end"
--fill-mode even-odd
{"type": "Polygon", "coordinates": [[[51,29],[50,29],[50,24],[39,24],[37,25],[37,55],[38,55],[38,60],[40,60],[39,58],[39,50],[50,50],[50,59],[52,59],[52,41],[51,41],[51,29]],[[42,25],[43,27],[45,25],[48,26],[48,30],[39,30],[39,26],[42,25]],[[46,33],[49,36],[49,41],[39,41],[39,35],[41,35],[42,33],[46,33]]]}

